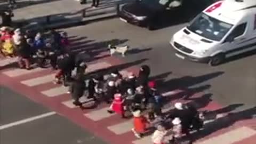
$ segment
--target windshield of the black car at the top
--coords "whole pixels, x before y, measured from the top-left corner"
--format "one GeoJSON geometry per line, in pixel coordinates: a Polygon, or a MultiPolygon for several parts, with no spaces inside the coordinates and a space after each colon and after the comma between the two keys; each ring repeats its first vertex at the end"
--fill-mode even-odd
{"type": "Polygon", "coordinates": [[[163,9],[165,4],[170,0],[141,0],[141,4],[145,5],[149,9],[158,10],[163,9]]]}

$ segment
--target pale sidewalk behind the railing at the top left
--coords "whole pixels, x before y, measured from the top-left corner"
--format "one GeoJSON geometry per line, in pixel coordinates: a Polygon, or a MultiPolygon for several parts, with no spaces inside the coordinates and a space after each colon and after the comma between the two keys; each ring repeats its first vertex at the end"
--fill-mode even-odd
{"type": "Polygon", "coordinates": [[[87,4],[83,5],[76,0],[20,0],[17,1],[13,21],[21,22],[23,25],[25,23],[26,27],[33,28],[73,26],[115,17],[117,4],[131,1],[133,0],[100,0],[99,7],[93,8],[91,0],[87,0],[87,4]],[[85,17],[83,10],[86,10],[85,17]]]}

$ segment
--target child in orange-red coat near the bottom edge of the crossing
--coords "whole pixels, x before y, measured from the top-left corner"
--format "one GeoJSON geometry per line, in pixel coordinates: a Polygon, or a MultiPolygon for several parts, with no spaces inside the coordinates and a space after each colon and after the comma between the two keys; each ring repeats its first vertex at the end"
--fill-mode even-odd
{"type": "Polygon", "coordinates": [[[147,132],[147,118],[141,115],[140,110],[133,111],[133,133],[135,137],[141,138],[147,132]]]}

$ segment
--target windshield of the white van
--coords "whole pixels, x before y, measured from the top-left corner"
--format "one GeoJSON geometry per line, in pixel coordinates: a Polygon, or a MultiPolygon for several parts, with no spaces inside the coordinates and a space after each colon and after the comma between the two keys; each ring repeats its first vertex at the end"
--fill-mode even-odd
{"type": "Polygon", "coordinates": [[[187,28],[202,37],[221,41],[231,27],[233,25],[201,13],[187,28]]]}

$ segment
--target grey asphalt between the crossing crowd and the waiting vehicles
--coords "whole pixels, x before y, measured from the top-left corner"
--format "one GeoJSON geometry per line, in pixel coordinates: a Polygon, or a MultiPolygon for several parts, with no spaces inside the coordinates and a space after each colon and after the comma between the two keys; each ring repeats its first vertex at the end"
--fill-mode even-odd
{"type": "Polygon", "coordinates": [[[115,44],[116,40],[122,45],[130,45],[131,50],[127,57],[118,57],[126,62],[142,60],[143,64],[151,67],[153,76],[160,75],[168,81],[164,82],[164,85],[170,86],[170,89],[209,85],[209,89],[204,90],[212,93],[213,100],[217,100],[223,106],[244,104],[240,110],[255,106],[255,55],[242,55],[218,67],[179,59],[174,55],[169,41],[176,31],[186,25],[181,22],[149,31],[116,18],[63,30],[70,36],[77,36],[77,45],[94,51],[106,50],[107,44],[115,44]]]}

